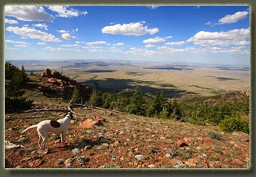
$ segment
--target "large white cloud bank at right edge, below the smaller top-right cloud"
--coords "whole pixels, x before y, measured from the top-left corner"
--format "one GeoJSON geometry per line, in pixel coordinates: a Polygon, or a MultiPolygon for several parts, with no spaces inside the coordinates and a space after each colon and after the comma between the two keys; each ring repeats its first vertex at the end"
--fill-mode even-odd
{"type": "Polygon", "coordinates": [[[249,41],[249,28],[233,29],[227,32],[197,32],[194,37],[188,39],[195,45],[210,46],[231,46],[231,45],[247,45],[249,41]]]}

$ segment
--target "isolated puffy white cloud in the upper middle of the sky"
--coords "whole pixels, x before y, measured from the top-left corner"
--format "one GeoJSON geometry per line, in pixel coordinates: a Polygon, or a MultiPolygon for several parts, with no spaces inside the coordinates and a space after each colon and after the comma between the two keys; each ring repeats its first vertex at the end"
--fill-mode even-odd
{"type": "Polygon", "coordinates": [[[113,26],[105,26],[101,29],[103,33],[109,34],[121,34],[126,36],[142,36],[147,33],[155,34],[158,32],[158,28],[148,28],[148,26],[143,26],[143,23],[130,23],[130,24],[115,24],[113,26]]]}

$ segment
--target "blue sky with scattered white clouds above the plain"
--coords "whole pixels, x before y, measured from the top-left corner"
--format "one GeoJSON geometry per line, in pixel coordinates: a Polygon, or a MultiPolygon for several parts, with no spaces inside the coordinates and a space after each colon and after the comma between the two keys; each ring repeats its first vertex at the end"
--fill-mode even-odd
{"type": "Polygon", "coordinates": [[[5,6],[5,59],[249,64],[249,6],[5,6]]]}

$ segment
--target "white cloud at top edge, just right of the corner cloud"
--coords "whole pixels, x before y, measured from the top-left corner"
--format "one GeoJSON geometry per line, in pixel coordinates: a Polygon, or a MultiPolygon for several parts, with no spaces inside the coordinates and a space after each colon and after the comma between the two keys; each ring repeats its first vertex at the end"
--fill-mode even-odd
{"type": "Polygon", "coordinates": [[[68,6],[48,6],[48,9],[55,11],[59,17],[70,18],[78,15],[86,15],[87,11],[77,11],[76,9],[69,8],[68,6]]]}

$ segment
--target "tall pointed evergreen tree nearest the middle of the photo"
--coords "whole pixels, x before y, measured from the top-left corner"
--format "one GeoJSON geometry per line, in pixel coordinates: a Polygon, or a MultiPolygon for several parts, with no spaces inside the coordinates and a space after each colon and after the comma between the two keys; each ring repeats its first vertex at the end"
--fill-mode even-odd
{"type": "Polygon", "coordinates": [[[130,97],[130,104],[128,106],[128,112],[130,114],[136,115],[145,115],[145,101],[143,98],[143,93],[141,92],[140,88],[137,87],[135,89],[135,94],[130,97]]]}

